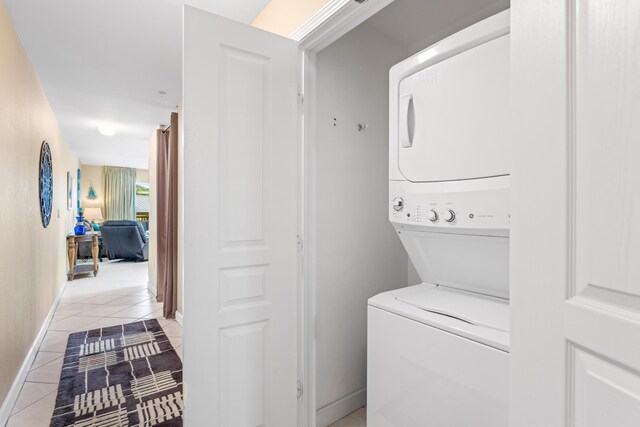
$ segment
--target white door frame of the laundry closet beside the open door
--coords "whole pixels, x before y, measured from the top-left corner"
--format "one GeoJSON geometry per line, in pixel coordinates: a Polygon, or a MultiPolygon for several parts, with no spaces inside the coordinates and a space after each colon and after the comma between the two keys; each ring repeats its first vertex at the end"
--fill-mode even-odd
{"type": "Polygon", "coordinates": [[[394,0],[330,0],[290,38],[298,42],[298,426],[316,426],[316,54],[394,0]]]}

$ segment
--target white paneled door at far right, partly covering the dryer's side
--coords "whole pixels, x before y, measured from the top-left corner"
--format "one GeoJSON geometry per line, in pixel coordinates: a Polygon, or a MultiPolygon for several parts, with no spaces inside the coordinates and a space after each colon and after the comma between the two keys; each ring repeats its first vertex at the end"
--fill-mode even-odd
{"type": "Polygon", "coordinates": [[[511,425],[640,425],[640,2],[512,9],[511,425]]]}

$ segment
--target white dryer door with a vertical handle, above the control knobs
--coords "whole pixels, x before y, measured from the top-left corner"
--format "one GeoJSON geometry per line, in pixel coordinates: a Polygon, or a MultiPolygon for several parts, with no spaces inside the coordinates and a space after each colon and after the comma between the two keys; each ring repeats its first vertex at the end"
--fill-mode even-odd
{"type": "Polygon", "coordinates": [[[400,171],[436,182],[509,174],[509,35],[400,83],[400,171]]]}

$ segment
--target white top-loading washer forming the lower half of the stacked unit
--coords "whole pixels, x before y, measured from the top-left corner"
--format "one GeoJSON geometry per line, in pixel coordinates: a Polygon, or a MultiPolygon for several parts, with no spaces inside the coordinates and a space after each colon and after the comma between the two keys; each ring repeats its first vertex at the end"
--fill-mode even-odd
{"type": "Polygon", "coordinates": [[[368,327],[368,426],[508,425],[506,301],[411,286],[372,298],[368,327]]]}

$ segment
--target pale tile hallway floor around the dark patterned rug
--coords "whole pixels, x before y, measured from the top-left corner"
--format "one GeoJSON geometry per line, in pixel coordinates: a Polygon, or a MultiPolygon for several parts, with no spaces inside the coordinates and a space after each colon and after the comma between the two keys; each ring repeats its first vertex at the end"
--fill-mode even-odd
{"type": "Polygon", "coordinates": [[[147,263],[105,260],[97,277],[80,276],[67,284],[7,427],[49,425],[71,332],[157,318],[182,357],[182,327],[162,317],[162,304],[147,291],[147,272],[147,263]]]}

